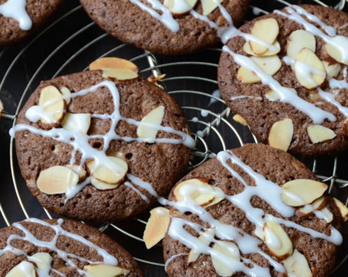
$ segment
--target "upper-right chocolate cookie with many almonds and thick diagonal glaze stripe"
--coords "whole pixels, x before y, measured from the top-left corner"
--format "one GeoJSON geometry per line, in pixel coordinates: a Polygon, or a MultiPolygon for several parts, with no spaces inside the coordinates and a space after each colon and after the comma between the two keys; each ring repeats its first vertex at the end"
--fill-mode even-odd
{"type": "Polygon", "coordinates": [[[305,155],[348,148],[347,23],[339,10],[289,6],[230,33],[220,91],[263,143],[305,155]]]}

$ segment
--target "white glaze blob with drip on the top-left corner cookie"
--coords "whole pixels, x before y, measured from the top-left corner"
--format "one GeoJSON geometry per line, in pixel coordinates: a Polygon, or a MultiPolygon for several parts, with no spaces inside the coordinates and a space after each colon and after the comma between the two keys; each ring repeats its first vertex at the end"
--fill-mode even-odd
{"type": "Polygon", "coordinates": [[[26,0],[7,0],[0,5],[0,14],[14,18],[19,23],[19,28],[27,31],[31,29],[33,23],[25,7],[26,0]]]}

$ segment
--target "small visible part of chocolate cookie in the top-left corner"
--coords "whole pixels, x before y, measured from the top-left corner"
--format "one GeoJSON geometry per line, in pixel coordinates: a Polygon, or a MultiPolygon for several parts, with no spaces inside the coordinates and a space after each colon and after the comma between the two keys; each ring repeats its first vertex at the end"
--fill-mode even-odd
{"type": "Polygon", "coordinates": [[[0,45],[23,40],[53,16],[62,0],[0,0],[0,45]]]}

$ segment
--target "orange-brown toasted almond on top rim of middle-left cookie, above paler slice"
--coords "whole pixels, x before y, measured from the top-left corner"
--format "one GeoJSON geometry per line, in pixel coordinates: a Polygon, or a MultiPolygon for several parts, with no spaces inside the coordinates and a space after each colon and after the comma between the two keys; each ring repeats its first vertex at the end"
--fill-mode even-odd
{"type": "Polygon", "coordinates": [[[89,64],[89,70],[101,70],[105,68],[131,70],[139,72],[139,68],[132,62],[117,57],[104,57],[89,64]]]}

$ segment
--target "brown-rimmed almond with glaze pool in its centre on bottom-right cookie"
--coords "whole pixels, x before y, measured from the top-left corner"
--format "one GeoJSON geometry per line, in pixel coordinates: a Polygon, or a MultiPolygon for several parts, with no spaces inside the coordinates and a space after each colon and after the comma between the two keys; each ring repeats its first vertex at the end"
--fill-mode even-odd
{"type": "Polygon", "coordinates": [[[283,227],[273,221],[263,226],[263,240],[269,251],[279,259],[285,259],[293,252],[292,242],[283,227]]]}

